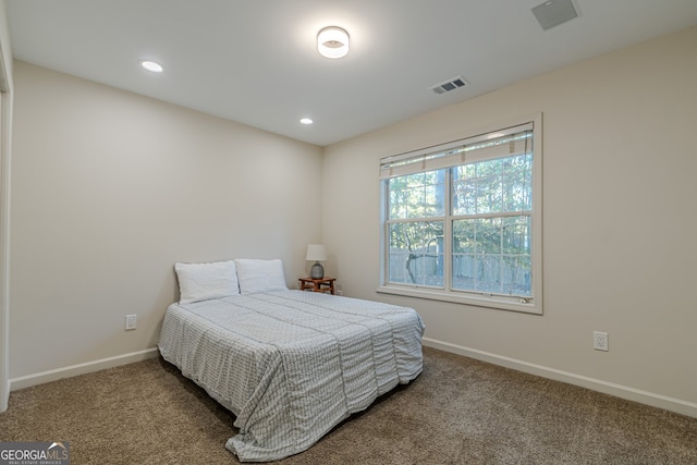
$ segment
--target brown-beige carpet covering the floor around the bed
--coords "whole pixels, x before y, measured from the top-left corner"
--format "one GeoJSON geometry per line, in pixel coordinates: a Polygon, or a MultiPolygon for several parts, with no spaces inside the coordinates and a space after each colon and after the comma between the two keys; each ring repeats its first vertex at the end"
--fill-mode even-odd
{"type": "MultiPolygon", "coordinates": [[[[296,464],[697,464],[697,418],[425,348],[425,370],[296,464]]],[[[235,464],[234,416],[159,358],[10,395],[0,441],[73,464],[235,464]]]]}

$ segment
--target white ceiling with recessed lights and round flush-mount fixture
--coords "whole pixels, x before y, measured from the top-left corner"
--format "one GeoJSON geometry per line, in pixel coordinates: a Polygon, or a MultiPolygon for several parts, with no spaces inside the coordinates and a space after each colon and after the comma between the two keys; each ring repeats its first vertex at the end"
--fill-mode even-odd
{"type": "Polygon", "coordinates": [[[574,0],[545,32],[541,2],[5,0],[16,59],[319,146],[697,24],[697,0],[574,0]],[[317,53],[329,25],[347,57],[317,53]],[[457,75],[470,85],[428,90],[457,75]]]}

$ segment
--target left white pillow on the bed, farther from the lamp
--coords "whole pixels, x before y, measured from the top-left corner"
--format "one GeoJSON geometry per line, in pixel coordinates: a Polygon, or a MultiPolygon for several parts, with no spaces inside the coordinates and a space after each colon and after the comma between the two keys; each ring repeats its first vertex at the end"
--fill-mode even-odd
{"type": "Polygon", "coordinates": [[[210,264],[174,264],[180,304],[240,294],[234,260],[210,264]]]}

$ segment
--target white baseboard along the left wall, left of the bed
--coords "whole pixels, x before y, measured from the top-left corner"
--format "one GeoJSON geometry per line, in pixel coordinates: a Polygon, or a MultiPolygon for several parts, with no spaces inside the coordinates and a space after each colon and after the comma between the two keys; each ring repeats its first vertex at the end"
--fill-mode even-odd
{"type": "Polygon", "coordinates": [[[32,386],[42,384],[45,382],[58,381],[59,379],[70,378],[77,375],[103,370],[106,368],[127,365],[135,362],[145,360],[156,357],[159,354],[157,347],[146,348],[144,351],[132,352],[130,354],[117,355],[115,357],[102,358],[100,360],[87,362],[69,367],[56,368],[48,371],[41,371],[33,375],[21,376],[10,379],[10,390],[29,388],[32,386]]]}

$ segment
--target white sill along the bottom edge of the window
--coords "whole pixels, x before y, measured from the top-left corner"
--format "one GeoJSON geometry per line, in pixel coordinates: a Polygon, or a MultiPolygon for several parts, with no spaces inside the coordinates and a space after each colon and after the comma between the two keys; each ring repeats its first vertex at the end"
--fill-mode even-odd
{"type": "Polygon", "coordinates": [[[457,292],[427,290],[423,287],[406,287],[381,285],[376,290],[380,294],[402,295],[405,297],[426,298],[429,301],[450,302],[453,304],[472,305],[476,307],[496,308],[500,310],[519,311],[524,314],[542,315],[542,307],[536,303],[522,303],[514,299],[497,298],[496,296],[476,296],[457,292]]]}

